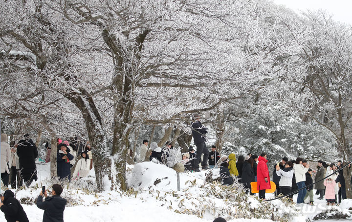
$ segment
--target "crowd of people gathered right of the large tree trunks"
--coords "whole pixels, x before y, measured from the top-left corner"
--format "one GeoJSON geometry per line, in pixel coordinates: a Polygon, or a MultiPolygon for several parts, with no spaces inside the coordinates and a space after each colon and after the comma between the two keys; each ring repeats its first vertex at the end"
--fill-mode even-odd
{"type": "MultiPolygon", "coordinates": [[[[172,167],[176,162],[181,162],[185,166],[185,171],[190,172],[199,172],[200,167],[202,170],[206,170],[208,167],[211,169],[219,167],[222,184],[231,185],[234,183],[234,178],[237,178],[238,182],[241,182],[246,188],[246,193],[249,192],[252,195],[251,182],[257,182],[259,198],[265,199],[265,191],[271,189],[267,155],[262,153],[258,157],[249,153],[245,156],[238,156],[238,160],[236,160],[236,154],[234,153],[228,156],[220,156],[215,145],[210,147],[211,151],[209,152],[205,145],[207,128],[200,122],[198,113],[193,114],[193,117],[194,121],[191,128],[196,150],[190,146],[188,152],[181,155],[180,151],[173,149],[170,141],[166,142],[164,148],[160,148],[156,142],[152,142],[150,146],[151,155],[148,155],[149,141],[144,140],[140,149],[140,161],[153,161],[154,159],[169,167],[172,167]],[[179,159],[179,156],[182,158],[179,159]]],[[[334,163],[328,165],[320,160],[317,169],[312,170],[309,168],[307,160],[299,157],[296,160],[288,161],[284,157],[275,164],[272,171],[272,181],[276,184],[275,196],[279,194],[287,195],[293,201],[293,195],[298,193],[298,204],[302,204],[309,198],[308,204],[314,205],[313,173],[316,173],[314,182],[317,183],[315,183],[314,188],[316,194],[320,196],[319,199],[325,199],[328,204],[335,204],[338,197],[338,202],[341,202],[342,199],[346,199],[346,185],[343,171],[335,172],[340,166],[341,161],[338,161],[336,165],[334,163]],[[330,174],[332,175],[329,178],[322,180],[330,174]]]]}

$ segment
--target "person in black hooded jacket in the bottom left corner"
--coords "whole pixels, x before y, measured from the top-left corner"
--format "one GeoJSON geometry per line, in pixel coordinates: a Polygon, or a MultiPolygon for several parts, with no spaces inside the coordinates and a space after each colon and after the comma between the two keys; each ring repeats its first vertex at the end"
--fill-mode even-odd
{"type": "Polygon", "coordinates": [[[6,190],[1,197],[0,210],[4,212],[7,222],[29,222],[23,207],[11,190],[6,190]]]}

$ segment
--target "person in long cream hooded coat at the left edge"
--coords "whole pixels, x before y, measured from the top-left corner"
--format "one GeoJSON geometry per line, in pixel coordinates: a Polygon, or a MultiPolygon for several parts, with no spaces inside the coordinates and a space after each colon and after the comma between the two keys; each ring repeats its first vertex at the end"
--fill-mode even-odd
{"type": "Polygon", "coordinates": [[[0,158],[1,158],[1,181],[4,186],[8,186],[10,171],[8,168],[8,162],[10,161],[11,151],[10,145],[7,143],[7,135],[1,133],[1,150],[0,150],[0,158]]]}

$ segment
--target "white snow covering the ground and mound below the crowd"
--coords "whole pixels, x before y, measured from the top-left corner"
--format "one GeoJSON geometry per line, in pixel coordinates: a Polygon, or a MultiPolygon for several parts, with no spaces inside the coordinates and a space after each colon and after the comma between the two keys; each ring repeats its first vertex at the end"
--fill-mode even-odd
{"type": "MultiPolygon", "coordinates": [[[[38,182],[33,182],[30,188],[25,190],[13,190],[16,198],[29,199],[33,202],[41,191],[42,184],[46,185],[49,177],[49,164],[38,164],[38,182]]],[[[130,195],[120,195],[118,192],[105,191],[99,194],[89,194],[84,190],[68,190],[64,189],[63,197],[74,200],[78,205],[68,206],[64,212],[64,220],[70,221],[94,221],[94,222],[155,222],[155,220],[167,220],[168,222],[212,222],[215,218],[214,213],[204,212],[203,218],[190,214],[180,214],[175,211],[184,209],[197,212],[199,203],[190,202],[188,200],[179,200],[179,197],[190,195],[190,199],[196,200],[204,198],[207,200],[205,204],[208,209],[220,209],[223,202],[217,200],[206,199],[206,195],[198,190],[198,187],[204,184],[205,172],[199,173],[181,173],[180,184],[181,191],[177,192],[176,172],[165,166],[152,162],[138,163],[135,166],[128,166],[127,172],[128,183],[133,187],[130,195]],[[134,167],[134,169],[132,169],[134,167]],[[154,185],[156,179],[160,179],[154,185]],[[196,180],[196,181],[195,181],[196,180]],[[190,186],[194,182],[195,186],[190,186]],[[182,190],[183,189],[183,190],[182,190]],[[135,192],[138,191],[138,192],[135,192]],[[198,198],[199,197],[199,198],[198,198]],[[178,202],[173,204],[173,202],[178,202]],[[181,203],[181,204],[180,204],[181,203]]],[[[213,170],[216,177],[219,170],[213,170]]],[[[3,193],[3,190],[1,191],[3,193]]],[[[266,198],[272,198],[272,194],[266,194],[266,198]]],[[[294,196],[294,200],[297,195],[294,196]]],[[[326,209],[324,200],[318,200],[318,196],[314,196],[315,206],[305,204],[299,208],[299,212],[290,212],[292,208],[287,208],[281,201],[273,201],[272,204],[283,212],[293,213],[292,221],[301,222],[308,218],[312,218],[317,213],[326,209]]],[[[249,198],[253,207],[260,204],[255,198],[249,198]]],[[[43,220],[43,210],[37,208],[36,205],[22,204],[30,222],[39,222],[43,220]]],[[[352,207],[352,200],[344,200],[340,206],[334,206],[342,213],[349,213],[348,208],[352,207]]],[[[5,221],[4,215],[0,213],[0,222],[5,221]]],[[[230,222],[266,222],[271,220],[264,219],[234,219],[230,222]]]]}

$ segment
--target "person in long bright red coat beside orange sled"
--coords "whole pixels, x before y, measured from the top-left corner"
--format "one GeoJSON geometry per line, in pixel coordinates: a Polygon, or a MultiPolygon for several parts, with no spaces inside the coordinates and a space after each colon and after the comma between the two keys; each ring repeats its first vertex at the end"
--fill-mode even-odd
{"type": "Polygon", "coordinates": [[[257,187],[259,190],[259,198],[265,200],[265,190],[271,189],[270,185],[270,175],[267,168],[266,154],[262,153],[258,158],[257,166],[257,187]]]}

